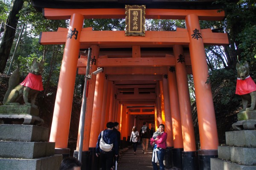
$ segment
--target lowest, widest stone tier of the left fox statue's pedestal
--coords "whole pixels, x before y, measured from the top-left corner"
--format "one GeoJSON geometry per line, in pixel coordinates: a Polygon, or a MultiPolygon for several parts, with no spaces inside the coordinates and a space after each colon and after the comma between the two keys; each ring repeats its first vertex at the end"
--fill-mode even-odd
{"type": "Polygon", "coordinates": [[[1,170],[58,170],[62,155],[35,159],[0,158],[1,170]]]}

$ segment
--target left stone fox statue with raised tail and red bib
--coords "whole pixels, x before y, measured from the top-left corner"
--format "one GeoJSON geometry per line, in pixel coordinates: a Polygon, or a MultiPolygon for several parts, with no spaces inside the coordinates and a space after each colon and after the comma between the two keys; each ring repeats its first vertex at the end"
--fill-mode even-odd
{"type": "Polygon", "coordinates": [[[20,72],[17,68],[15,72],[9,78],[8,90],[4,96],[4,105],[17,105],[22,104],[22,97],[27,106],[38,108],[35,105],[35,99],[39,91],[43,89],[42,72],[44,67],[44,61],[37,62],[37,58],[34,58],[31,70],[26,76],[25,80],[19,84],[20,72]],[[29,103],[30,98],[30,103],[29,103]],[[16,104],[15,104],[16,103],[16,104]]]}

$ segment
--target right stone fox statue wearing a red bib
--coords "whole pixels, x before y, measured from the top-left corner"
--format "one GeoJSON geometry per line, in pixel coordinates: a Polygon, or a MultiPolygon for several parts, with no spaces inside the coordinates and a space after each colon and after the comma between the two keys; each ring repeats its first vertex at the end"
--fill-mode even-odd
{"type": "Polygon", "coordinates": [[[249,75],[249,66],[247,61],[242,66],[236,63],[237,81],[236,81],[236,94],[241,95],[243,102],[243,109],[240,110],[254,110],[256,104],[256,84],[249,75]],[[250,107],[247,108],[250,102],[250,107]]]}

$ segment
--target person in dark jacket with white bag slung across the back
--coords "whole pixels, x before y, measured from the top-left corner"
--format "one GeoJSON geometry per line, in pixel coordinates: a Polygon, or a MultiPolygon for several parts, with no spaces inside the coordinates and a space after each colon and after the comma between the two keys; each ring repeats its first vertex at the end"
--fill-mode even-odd
{"type": "Polygon", "coordinates": [[[113,164],[113,155],[118,156],[118,139],[117,134],[113,131],[114,123],[108,122],[107,129],[103,131],[103,135],[99,133],[98,141],[96,144],[96,156],[98,157],[99,154],[101,155],[102,159],[102,170],[111,170],[113,164]],[[100,139],[103,138],[105,143],[113,144],[112,149],[109,152],[105,152],[104,150],[100,149],[99,142],[100,139]]]}

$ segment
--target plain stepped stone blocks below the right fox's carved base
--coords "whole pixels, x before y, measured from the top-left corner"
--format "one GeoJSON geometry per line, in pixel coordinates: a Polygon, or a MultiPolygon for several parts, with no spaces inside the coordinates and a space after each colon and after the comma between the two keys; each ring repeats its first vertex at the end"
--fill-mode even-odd
{"type": "Polygon", "coordinates": [[[211,158],[211,170],[256,170],[256,130],[226,132],[226,145],[211,158]]]}

